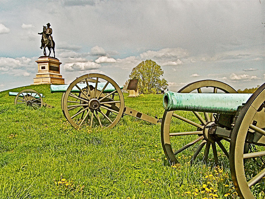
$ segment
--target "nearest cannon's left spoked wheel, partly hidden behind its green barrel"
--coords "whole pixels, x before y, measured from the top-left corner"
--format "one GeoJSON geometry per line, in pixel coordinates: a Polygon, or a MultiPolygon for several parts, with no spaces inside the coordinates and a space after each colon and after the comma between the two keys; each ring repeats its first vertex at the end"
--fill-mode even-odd
{"type": "MultiPolygon", "coordinates": [[[[216,80],[202,80],[186,85],[179,93],[237,93],[231,86],[216,80]]],[[[161,125],[161,142],[165,155],[171,165],[182,159],[182,154],[194,151],[191,163],[204,146],[203,161],[206,162],[212,147],[215,164],[218,165],[216,143],[228,157],[221,139],[207,133],[207,127],[214,124],[213,114],[191,111],[165,111],[161,125]],[[181,115],[181,116],[180,116],[181,115]],[[185,150],[188,149],[188,150],[185,150]]],[[[191,154],[192,155],[192,154],[191,154]]]]}

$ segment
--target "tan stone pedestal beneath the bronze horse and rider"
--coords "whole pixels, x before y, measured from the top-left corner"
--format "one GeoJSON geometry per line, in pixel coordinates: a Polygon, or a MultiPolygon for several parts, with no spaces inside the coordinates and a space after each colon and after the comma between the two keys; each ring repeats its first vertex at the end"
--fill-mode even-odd
{"type": "Polygon", "coordinates": [[[60,74],[60,64],[57,58],[41,56],[38,58],[38,73],[34,84],[64,84],[64,78],[60,74]]]}

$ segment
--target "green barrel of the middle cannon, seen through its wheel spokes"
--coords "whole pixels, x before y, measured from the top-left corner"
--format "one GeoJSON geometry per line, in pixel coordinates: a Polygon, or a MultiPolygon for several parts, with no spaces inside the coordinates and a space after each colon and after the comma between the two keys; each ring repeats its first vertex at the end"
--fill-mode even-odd
{"type": "MultiPolygon", "coordinates": [[[[97,83],[97,90],[102,91],[102,89],[104,88],[104,86],[106,85],[107,82],[98,82],[97,83]]],[[[89,85],[92,86],[93,88],[95,88],[96,83],[91,83],[89,82],[89,85]]],[[[80,83],[77,84],[77,86],[80,89],[86,88],[87,84],[86,83],[80,83]]],[[[51,93],[65,93],[67,88],[69,87],[69,84],[64,84],[64,85],[51,85],[51,93]]],[[[120,89],[123,88],[123,86],[119,86],[120,89]]],[[[112,86],[111,84],[108,84],[107,87],[104,89],[103,93],[110,93],[112,91],[115,91],[114,86],[112,86]]],[[[80,93],[80,90],[74,86],[71,90],[72,93],[80,93]]]]}

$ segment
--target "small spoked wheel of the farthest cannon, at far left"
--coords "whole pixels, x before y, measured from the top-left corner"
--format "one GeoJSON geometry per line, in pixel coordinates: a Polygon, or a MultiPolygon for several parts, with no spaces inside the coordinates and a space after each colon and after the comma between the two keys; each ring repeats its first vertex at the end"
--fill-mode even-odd
{"type": "Polygon", "coordinates": [[[20,91],[15,98],[16,104],[24,104],[25,106],[31,106],[34,109],[41,108],[43,106],[42,96],[32,89],[25,89],[20,91]]]}

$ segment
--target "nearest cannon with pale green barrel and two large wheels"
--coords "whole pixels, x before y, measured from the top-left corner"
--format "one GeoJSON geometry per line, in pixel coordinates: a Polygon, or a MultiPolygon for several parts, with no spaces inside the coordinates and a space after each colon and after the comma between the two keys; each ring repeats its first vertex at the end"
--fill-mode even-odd
{"type": "Polygon", "coordinates": [[[253,94],[237,93],[215,80],[191,83],[178,93],[166,92],[161,142],[169,163],[179,166],[178,156],[190,152],[191,164],[196,160],[206,163],[212,149],[214,165],[218,166],[218,145],[229,159],[238,196],[249,199],[263,194],[263,198],[264,100],[265,84],[253,94]]]}

